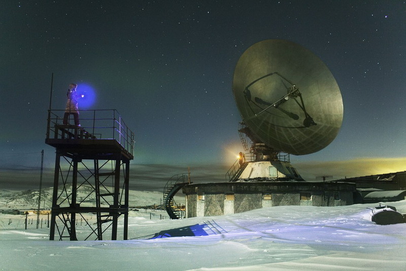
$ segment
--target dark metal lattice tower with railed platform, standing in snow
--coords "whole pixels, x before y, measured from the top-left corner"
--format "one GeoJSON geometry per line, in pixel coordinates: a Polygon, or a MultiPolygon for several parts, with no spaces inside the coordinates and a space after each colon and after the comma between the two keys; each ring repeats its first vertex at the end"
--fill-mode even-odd
{"type": "Polygon", "coordinates": [[[80,110],[81,126],[63,125],[63,112],[48,111],[45,143],[56,149],[49,239],[126,240],[134,133],[114,109],[80,110]]]}

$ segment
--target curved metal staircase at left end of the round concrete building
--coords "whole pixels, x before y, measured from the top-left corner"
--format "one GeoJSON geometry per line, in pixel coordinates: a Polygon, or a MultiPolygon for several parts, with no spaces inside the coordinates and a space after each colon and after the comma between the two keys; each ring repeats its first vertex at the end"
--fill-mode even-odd
{"type": "Polygon", "coordinates": [[[183,206],[175,202],[174,196],[182,187],[188,184],[190,184],[188,173],[176,174],[168,180],[163,189],[163,205],[171,219],[181,219],[185,217],[183,206]]]}

